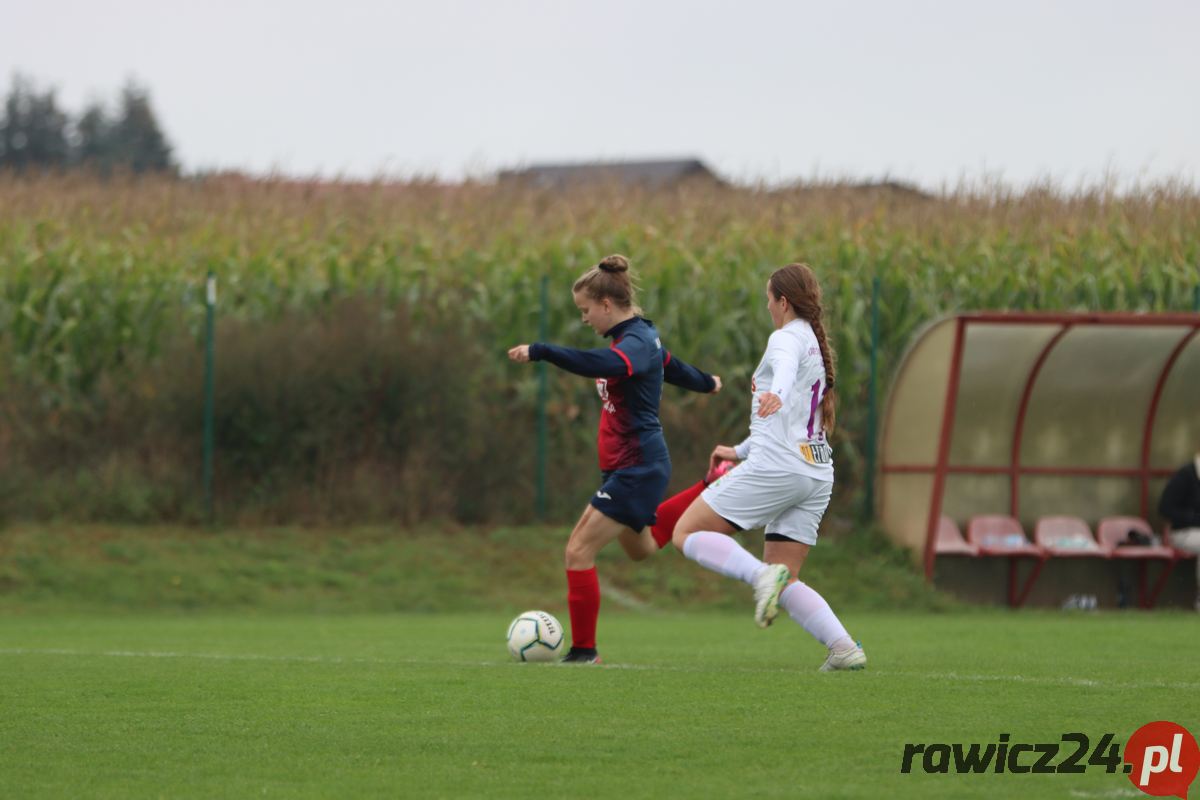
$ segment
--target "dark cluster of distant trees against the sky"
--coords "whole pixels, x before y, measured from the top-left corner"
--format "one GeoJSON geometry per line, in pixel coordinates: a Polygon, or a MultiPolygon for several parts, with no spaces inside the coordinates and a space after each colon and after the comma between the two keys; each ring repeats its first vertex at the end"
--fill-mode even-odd
{"type": "Polygon", "coordinates": [[[72,116],[54,89],[17,74],[0,116],[0,172],[170,173],[172,151],[149,91],[132,80],[113,108],[92,102],[72,116]]]}

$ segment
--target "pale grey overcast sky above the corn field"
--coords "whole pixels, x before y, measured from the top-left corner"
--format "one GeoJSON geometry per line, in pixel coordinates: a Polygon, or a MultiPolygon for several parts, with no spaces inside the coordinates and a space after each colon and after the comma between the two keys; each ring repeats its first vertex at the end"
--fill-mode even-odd
{"type": "Polygon", "coordinates": [[[1196,0],[0,0],[72,113],[133,77],[186,169],[1200,178],[1196,0]]]}

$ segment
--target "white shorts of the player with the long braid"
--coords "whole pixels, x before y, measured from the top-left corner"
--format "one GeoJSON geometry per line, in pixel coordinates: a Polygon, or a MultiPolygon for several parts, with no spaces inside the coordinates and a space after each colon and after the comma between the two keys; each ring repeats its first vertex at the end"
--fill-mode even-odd
{"type": "Polygon", "coordinates": [[[816,545],[817,528],[829,507],[830,495],[832,481],[780,470],[768,471],[746,461],[700,497],[713,511],[743,530],[764,528],[767,534],[816,545]]]}

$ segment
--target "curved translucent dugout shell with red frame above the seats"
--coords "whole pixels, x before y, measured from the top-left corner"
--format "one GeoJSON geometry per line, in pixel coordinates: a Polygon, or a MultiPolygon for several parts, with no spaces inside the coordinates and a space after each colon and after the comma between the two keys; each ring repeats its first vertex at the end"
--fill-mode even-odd
{"type": "Polygon", "coordinates": [[[1160,530],[1162,487],[1200,449],[1198,333],[1196,313],[974,312],[930,324],[884,413],[884,530],[929,579],[948,521],[1007,516],[1032,533],[1046,517],[1094,530],[1126,515],[1160,530]]]}

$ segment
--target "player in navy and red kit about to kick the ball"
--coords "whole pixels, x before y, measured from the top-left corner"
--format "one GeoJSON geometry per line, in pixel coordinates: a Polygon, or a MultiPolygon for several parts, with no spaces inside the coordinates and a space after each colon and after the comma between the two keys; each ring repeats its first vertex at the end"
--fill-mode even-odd
{"type": "MultiPolygon", "coordinates": [[[[618,540],[634,560],[661,546],[652,535],[659,501],[671,480],[671,456],[659,422],[662,383],[715,393],[721,379],[684,363],[662,347],[654,324],[634,300],[629,261],[610,255],[584,272],[572,289],[583,323],[612,339],[607,348],[574,348],[534,342],[509,350],[514,361],[548,361],[596,379],[600,393],[598,453],[602,483],[566,542],[566,603],[571,650],[563,661],[599,661],[595,645],[600,584],[595,557],[618,540]]],[[[673,525],[672,525],[673,527],[673,525]]],[[[670,531],[666,534],[670,537],[670,531]]]]}

